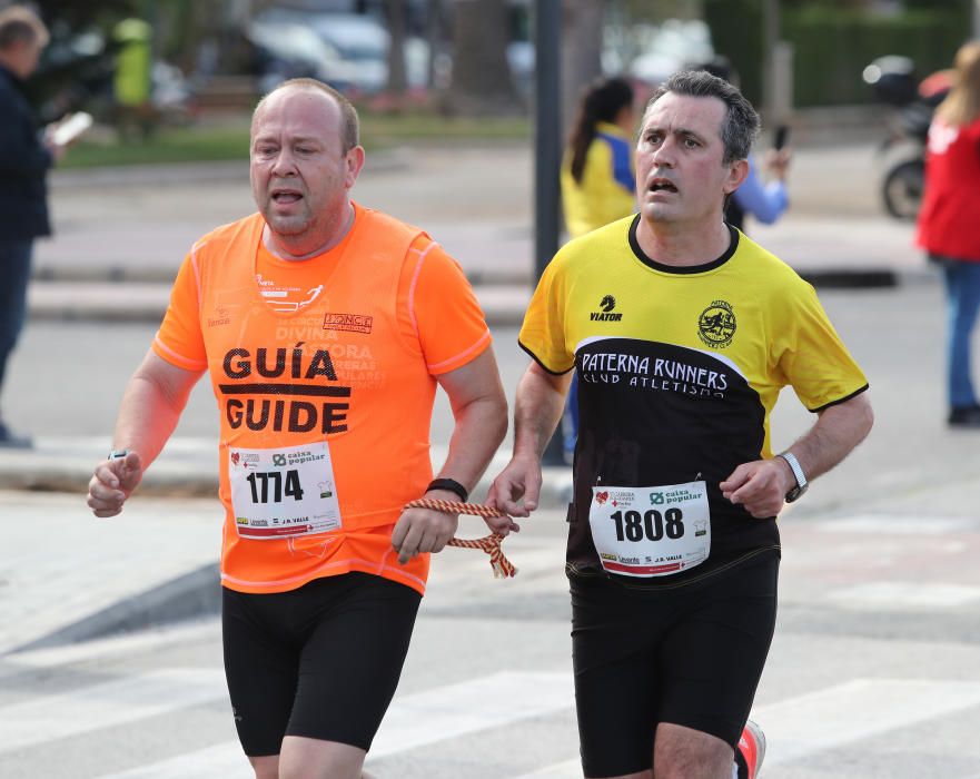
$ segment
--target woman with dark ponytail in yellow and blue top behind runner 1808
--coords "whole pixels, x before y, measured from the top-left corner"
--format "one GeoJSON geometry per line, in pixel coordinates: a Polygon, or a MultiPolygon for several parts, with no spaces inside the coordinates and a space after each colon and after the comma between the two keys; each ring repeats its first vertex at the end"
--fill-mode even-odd
{"type": "Polygon", "coordinates": [[[573,238],[635,210],[633,88],[621,78],[593,81],[578,110],[562,164],[562,204],[573,238]]]}

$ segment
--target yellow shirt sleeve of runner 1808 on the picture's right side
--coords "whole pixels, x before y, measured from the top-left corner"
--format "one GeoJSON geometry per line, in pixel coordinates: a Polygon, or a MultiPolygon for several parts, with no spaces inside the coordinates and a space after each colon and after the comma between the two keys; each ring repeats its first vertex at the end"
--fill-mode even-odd
{"type": "Polygon", "coordinates": [[[868,388],[813,287],[802,279],[785,290],[774,322],[773,357],[800,402],[812,412],[843,403],[868,388]]]}

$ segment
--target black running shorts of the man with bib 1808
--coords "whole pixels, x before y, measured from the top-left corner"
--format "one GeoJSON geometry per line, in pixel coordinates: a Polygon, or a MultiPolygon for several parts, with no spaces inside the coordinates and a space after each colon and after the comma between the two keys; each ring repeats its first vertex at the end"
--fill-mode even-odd
{"type": "Polygon", "coordinates": [[[676,589],[571,578],[586,777],[650,770],[660,722],[735,747],[775,628],[779,558],[676,589]]]}

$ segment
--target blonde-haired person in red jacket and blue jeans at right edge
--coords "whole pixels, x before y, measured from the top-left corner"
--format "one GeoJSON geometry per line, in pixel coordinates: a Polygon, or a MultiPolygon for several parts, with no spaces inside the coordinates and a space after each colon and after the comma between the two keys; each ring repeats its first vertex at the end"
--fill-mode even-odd
{"type": "Polygon", "coordinates": [[[953,86],[929,128],[917,243],[942,267],[947,292],[948,422],[980,427],[970,336],[980,312],[980,41],[957,52],[953,86]]]}

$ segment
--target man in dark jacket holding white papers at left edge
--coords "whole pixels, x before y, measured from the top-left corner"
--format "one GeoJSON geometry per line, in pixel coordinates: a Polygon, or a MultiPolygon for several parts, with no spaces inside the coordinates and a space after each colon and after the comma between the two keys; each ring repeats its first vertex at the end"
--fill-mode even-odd
{"type": "MultiPolygon", "coordinates": [[[[46,176],[63,147],[38,132],[23,82],[38,67],[48,30],[30,10],[0,11],[0,389],[27,314],[31,250],[50,235],[46,176]]],[[[0,415],[0,446],[28,447],[0,415]]]]}

